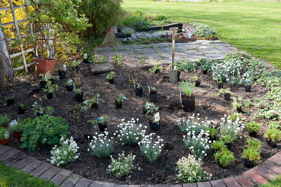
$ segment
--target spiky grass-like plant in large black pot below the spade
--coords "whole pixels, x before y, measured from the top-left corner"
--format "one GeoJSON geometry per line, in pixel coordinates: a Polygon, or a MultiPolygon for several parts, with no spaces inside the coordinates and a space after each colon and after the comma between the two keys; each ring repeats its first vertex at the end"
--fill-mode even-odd
{"type": "Polygon", "coordinates": [[[195,82],[192,82],[191,80],[185,80],[180,82],[180,84],[178,84],[178,86],[180,87],[180,89],[185,93],[185,95],[183,95],[181,97],[181,102],[182,102],[182,106],[183,106],[183,110],[185,112],[192,112],[195,110],[195,96],[194,94],[192,94],[192,91],[195,91],[196,89],[194,89],[195,86],[195,82]]]}

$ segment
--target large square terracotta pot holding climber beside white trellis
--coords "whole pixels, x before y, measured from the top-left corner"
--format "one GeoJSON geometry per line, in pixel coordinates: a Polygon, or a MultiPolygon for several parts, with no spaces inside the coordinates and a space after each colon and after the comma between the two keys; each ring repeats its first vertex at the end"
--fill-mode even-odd
{"type": "Polygon", "coordinates": [[[51,75],[54,75],[57,59],[53,59],[53,58],[51,58],[50,60],[42,60],[40,58],[33,58],[33,59],[35,63],[36,76],[39,76],[40,74],[46,74],[48,71],[50,71],[51,75]]]}

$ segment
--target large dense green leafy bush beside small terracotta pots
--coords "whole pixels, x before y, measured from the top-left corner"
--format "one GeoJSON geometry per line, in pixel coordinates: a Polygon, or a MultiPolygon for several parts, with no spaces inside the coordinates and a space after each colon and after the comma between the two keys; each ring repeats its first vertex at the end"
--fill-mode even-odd
{"type": "Polygon", "coordinates": [[[22,149],[29,151],[34,150],[38,145],[55,145],[60,142],[60,138],[64,138],[70,134],[68,124],[63,118],[49,116],[39,116],[35,119],[27,118],[22,131],[22,149]]]}

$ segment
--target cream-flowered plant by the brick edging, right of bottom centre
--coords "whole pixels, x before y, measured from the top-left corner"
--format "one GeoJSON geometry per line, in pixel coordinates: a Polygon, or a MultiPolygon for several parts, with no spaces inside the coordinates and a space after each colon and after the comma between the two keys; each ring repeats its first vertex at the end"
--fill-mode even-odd
{"type": "Polygon", "coordinates": [[[203,172],[202,160],[193,155],[188,155],[188,158],[182,157],[177,162],[176,170],[178,170],[178,179],[186,183],[198,183],[202,181],[210,181],[212,174],[203,172]]]}

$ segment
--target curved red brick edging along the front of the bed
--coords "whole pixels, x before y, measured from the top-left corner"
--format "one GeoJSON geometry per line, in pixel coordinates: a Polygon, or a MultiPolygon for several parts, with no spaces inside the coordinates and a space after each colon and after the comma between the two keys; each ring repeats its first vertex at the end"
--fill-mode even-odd
{"type": "Polygon", "coordinates": [[[145,185],[120,185],[107,182],[93,181],[69,170],[61,169],[49,163],[39,161],[12,147],[0,144],[0,160],[3,163],[20,169],[33,177],[47,179],[62,187],[252,187],[266,183],[266,178],[273,179],[281,174],[281,151],[263,163],[244,172],[242,176],[234,179],[229,177],[215,181],[189,183],[189,184],[145,184],[145,185]]]}

